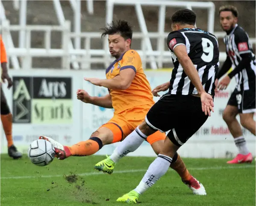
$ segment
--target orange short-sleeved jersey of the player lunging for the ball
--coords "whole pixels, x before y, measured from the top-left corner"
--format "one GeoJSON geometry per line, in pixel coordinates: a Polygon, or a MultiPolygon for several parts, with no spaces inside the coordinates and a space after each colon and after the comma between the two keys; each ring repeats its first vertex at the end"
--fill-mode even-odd
{"type": "Polygon", "coordinates": [[[114,114],[141,105],[153,105],[150,84],[142,69],[140,55],[135,50],[128,50],[106,69],[106,78],[112,79],[123,69],[133,69],[135,74],[131,85],[126,90],[110,89],[114,114]]]}

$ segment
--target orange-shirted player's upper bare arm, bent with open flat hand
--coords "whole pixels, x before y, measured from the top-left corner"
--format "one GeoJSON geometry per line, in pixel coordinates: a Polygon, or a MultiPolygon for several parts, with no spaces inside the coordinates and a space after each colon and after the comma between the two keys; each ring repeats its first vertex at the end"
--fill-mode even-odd
{"type": "Polygon", "coordinates": [[[135,77],[135,72],[132,68],[121,70],[119,75],[112,79],[84,78],[97,86],[103,86],[113,90],[128,89],[135,77]]]}

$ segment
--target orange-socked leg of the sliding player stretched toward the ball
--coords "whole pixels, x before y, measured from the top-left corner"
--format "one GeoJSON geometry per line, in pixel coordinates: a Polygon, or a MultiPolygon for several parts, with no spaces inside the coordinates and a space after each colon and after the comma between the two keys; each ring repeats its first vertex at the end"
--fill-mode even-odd
{"type": "Polygon", "coordinates": [[[58,157],[59,160],[64,160],[70,156],[81,157],[95,154],[104,145],[111,144],[115,141],[112,131],[106,127],[101,127],[96,132],[92,133],[90,139],[72,146],[64,146],[50,137],[40,136],[39,139],[47,140],[53,144],[56,157],[58,157]]]}

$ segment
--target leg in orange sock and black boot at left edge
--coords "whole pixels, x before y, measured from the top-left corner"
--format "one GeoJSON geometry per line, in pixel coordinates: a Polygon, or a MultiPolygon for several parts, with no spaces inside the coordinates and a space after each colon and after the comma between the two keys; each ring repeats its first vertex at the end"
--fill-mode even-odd
{"type": "Polygon", "coordinates": [[[12,140],[12,113],[10,112],[9,106],[6,102],[6,97],[1,88],[1,99],[0,99],[0,113],[1,113],[1,121],[3,124],[3,130],[6,135],[6,140],[8,143],[8,155],[13,159],[18,159],[22,157],[22,153],[17,150],[17,148],[13,144],[12,140]]]}

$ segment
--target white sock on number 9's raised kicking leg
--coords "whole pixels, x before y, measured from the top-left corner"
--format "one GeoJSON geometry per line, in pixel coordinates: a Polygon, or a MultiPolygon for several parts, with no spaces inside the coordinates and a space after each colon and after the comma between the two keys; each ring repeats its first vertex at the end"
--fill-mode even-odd
{"type": "Polygon", "coordinates": [[[114,150],[110,159],[117,163],[122,157],[125,157],[129,152],[134,152],[138,149],[143,141],[147,138],[147,135],[143,134],[138,127],[129,134],[114,150]]]}

